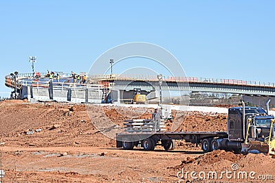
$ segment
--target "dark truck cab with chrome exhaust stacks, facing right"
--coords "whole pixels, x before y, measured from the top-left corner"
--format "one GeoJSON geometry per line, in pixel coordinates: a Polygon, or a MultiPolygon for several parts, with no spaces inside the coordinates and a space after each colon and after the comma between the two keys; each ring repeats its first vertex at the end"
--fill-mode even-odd
{"type": "Polygon", "coordinates": [[[271,154],[275,145],[273,123],[274,116],[269,115],[263,108],[245,106],[230,108],[228,143],[234,144],[238,147],[235,149],[243,152],[271,154]]]}

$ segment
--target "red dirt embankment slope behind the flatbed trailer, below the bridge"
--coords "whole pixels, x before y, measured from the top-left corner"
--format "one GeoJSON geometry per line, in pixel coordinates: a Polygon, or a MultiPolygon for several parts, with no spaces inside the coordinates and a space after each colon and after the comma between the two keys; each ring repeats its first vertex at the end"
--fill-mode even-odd
{"type": "MultiPolygon", "coordinates": [[[[126,119],[151,119],[153,109],[124,108],[68,103],[10,103],[0,106],[0,136],[7,145],[113,147],[115,141],[104,136],[94,123],[110,121],[123,127],[126,119]],[[88,113],[91,112],[91,119],[88,113]],[[36,132],[37,131],[37,132],[36,132]]],[[[223,131],[226,115],[188,112],[179,131],[223,131]],[[207,125],[206,125],[207,124],[207,125]]],[[[166,123],[170,128],[172,123],[166,123]]],[[[183,145],[189,149],[189,146],[183,145]]],[[[190,147],[194,149],[194,147],[190,147]]]]}

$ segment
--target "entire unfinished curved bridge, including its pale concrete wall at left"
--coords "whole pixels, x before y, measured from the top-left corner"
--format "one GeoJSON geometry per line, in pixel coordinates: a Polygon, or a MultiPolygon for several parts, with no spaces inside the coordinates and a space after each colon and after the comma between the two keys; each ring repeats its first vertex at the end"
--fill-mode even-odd
{"type": "MultiPolygon", "coordinates": [[[[47,73],[41,73],[38,80],[33,80],[32,73],[5,77],[5,85],[16,88],[21,98],[49,99],[50,85],[47,73]],[[16,83],[15,83],[15,82],[16,83]]],[[[59,73],[60,82],[53,80],[52,93],[58,101],[100,103],[104,88],[117,91],[118,100],[133,97],[133,88],[141,88],[144,94],[159,89],[159,80],[153,75],[88,75],[87,84],[74,84],[71,74],[59,73]],[[70,96],[69,96],[70,95],[70,96]]],[[[203,77],[170,77],[163,76],[162,90],[195,91],[210,93],[232,93],[256,96],[275,96],[275,84],[243,80],[225,80],[203,77]]],[[[51,98],[51,97],[50,97],[51,98]]]]}

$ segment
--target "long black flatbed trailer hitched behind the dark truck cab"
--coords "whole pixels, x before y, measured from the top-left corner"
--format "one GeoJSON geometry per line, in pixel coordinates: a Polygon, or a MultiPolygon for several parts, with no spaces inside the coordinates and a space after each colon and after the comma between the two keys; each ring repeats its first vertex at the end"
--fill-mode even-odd
{"type": "MultiPolygon", "coordinates": [[[[156,145],[162,145],[166,151],[175,149],[175,140],[199,145],[203,139],[227,138],[227,132],[124,132],[116,134],[116,147],[133,149],[141,144],[146,151],[152,151],[156,145]]],[[[208,143],[207,146],[210,144],[208,143]]],[[[205,147],[208,148],[208,147],[205,147]]]]}

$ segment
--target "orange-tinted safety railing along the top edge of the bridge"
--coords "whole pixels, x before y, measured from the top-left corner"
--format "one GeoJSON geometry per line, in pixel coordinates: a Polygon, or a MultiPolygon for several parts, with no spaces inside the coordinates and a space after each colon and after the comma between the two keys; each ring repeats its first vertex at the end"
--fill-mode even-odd
{"type": "MultiPolygon", "coordinates": [[[[61,77],[72,77],[72,73],[62,73],[56,72],[61,77]]],[[[83,73],[81,73],[83,75],[83,73]]],[[[48,73],[40,73],[41,77],[46,77],[48,73]]],[[[7,75],[6,78],[10,78],[10,75],[7,75]]],[[[32,73],[19,73],[18,76],[20,78],[32,78],[32,73]]],[[[110,80],[129,80],[129,81],[151,81],[151,82],[159,82],[156,75],[87,75],[88,80],[95,81],[110,81],[110,80]]],[[[162,82],[195,82],[195,83],[209,83],[209,84],[234,84],[241,86],[267,86],[267,87],[275,87],[274,83],[271,82],[255,82],[255,81],[243,81],[243,80],[226,80],[226,79],[214,79],[214,78],[206,78],[206,77],[172,77],[172,76],[162,76],[162,82]]]]}

